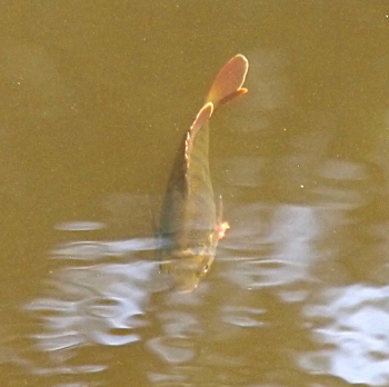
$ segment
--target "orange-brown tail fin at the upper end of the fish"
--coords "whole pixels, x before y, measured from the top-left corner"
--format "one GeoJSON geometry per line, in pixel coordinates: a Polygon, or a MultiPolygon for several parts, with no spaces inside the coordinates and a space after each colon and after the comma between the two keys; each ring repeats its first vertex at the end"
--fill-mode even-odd
{"type": "Polygon", "coordinates": [[[230,59],[216,76],[207,102],[212,102],[217,108],[245,95],[247,89],[242,88],[242,85],[248,69],[249,61],[245,56],[239,53],[230,59]]]}

